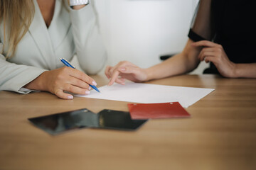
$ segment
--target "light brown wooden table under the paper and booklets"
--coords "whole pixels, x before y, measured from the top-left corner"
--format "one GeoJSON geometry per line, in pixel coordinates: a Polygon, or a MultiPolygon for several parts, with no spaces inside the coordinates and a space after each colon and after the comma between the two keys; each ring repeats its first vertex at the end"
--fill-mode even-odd
{"type": "Polygon", "coordinates": [[[128,111],[127,102],[0,91],[0,169],[256,169],[256,79],[183,75],[148,83],[215,91],[186,108],[191,118],[149,120],[136,132],[82,129],[55,137],[28,118],[80,108],[128,111]]]}

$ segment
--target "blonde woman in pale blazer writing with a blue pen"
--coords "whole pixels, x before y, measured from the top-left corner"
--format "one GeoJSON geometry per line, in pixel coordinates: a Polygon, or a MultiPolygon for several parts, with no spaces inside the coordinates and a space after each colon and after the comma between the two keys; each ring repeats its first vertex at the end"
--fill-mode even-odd
{"type": "Polygon", "coordinates": [[[67,0],[0,2],[0,90],[21,94],[49,91],[65,99],[73,96],[64,91],[89,94],[88,84],[96,85],[96,82],[87,74],[97,74],[107,60],[93,1],[74,4],[81,1],[70,0],[74,4],[72,7],[67,0]],[[31,4],[32,12],[24,12],[23,8],[31,4]],[[12,11],[6,6],[11,6],[12,11]],[[31,23],[26,22],[29,12],[33,14],[31,23]],[[20,38],[17,35],[16,41],[11,39],[15,38],[11,30],[16,25],[9,24],[17,19],[12,18],[15,14],[21,17],[19,23],[26,22],[28,27],[26,30],[22,25],[21,40],[17,40],[20,38]],[[70,61],[75,54],[86,74],[63,67],[60,62],[60,57],[70,61]]]}

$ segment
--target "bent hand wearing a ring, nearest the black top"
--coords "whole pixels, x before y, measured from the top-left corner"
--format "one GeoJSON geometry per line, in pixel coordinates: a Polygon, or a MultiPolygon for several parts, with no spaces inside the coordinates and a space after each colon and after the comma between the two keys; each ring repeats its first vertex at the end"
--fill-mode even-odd
{"type": "Polygon", "coordinates": [[[198,59],[201,61],[213,62],[223,77],[234,77],[235,74],[235,63],[228,59],[222,45],[210,42],[208,40],[202,40],[193,42],[194,47],[203,47],[198,59]]]}

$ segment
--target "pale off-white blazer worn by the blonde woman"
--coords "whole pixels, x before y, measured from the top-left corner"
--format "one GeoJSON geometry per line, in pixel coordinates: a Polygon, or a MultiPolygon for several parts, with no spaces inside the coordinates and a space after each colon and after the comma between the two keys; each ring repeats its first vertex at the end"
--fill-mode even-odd
{"type": "MultiPolygon", "coordinates": [[[[6,60],[6,44],[0,53],[0,90],[26,94],[30,91],[24,90],[24,85],[46,70],[63,67],[60,57],[71,60],[75,54],[85,73],[100,72],[107,55],[93,1],[80,10],[67,10],[62,0],[56,0],[49,28],[46,27],[37,1],[33,2],[35,16],[28,32],[18,43],[14,57],[6,60]]],[[[3,25],[0,23],[0,52],[4,43],[3,25]]]]}

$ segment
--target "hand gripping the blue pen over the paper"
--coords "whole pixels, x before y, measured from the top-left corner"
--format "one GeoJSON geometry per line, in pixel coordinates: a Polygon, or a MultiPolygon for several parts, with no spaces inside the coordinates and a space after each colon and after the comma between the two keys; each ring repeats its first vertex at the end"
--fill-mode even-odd
{"type": "Polygon", "coordinates": [[[78,69],[70,67],[62,67],[51,71],[43,72],[38,78],[27,84],[27,89],[49,91],[59,98],[73,99],[71,94],[66,94],[64,91],[73,94],[90,94],[90,86],[97,85],[95,80],[80,72],[78,69]]]}

